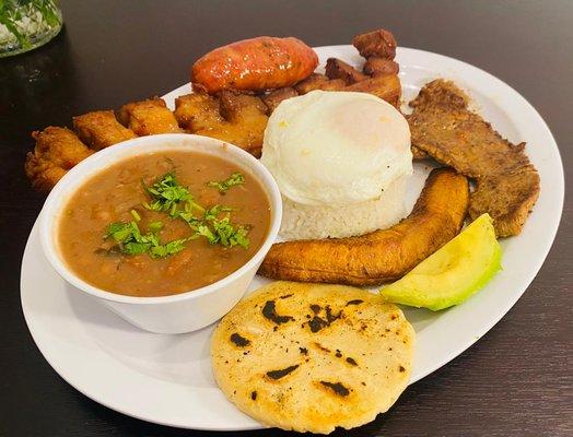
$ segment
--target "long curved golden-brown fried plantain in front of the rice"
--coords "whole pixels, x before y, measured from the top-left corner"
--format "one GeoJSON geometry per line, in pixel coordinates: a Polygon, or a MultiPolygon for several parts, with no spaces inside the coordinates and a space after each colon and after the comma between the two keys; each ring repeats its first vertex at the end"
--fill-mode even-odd
{"type": "Polygon", "coordinates": [[[467,178],[449,168],[434,169],[411,214],[397,225],[359,237],[276,244],[259,273],[359,286],[394,281],[459,233],[468,203],[467,178]]]}

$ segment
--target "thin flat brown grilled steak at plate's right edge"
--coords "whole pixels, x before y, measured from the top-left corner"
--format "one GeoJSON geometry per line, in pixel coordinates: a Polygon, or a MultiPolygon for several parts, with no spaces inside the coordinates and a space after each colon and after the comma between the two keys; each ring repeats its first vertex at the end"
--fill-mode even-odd
{"type": "Polygon", "coordinates": [[[440,163],[476,179],[469,214],[489,213],[499,237],[521,233],[539,196],[539,175],[524,153],[468,109],[468,96],[452,82],[426,84],[410,103],[412,144],[440,163]]]}

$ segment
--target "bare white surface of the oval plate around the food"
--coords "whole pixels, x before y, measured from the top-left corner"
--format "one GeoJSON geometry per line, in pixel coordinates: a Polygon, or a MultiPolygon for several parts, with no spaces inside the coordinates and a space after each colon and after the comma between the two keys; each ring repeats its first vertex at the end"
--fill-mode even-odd
{"type": "MultiPolygon", "coordinates": [[[[353,64],[351,46],[318,47],[353,64]]],[[[527,142],[541,176],[541,193],[522,235],[502,241],[503,271],[457,307],[441,312],[407,309],[417,333],[411,382],[440,368],[488,332],[525,292],[551,247],[563,206],[563,168],[558,146],[539,114],[517,92],[491,74],[441,55],[399,48],[404,98],[410,101],[435,78],[466,88],[476,108],[512,142],[527,142]]],[[[184,85],[165,98],[190,92],[184,85]]],[[[409,201],[418,197],[428,168],[416,165],[409,201]]],[[[257,276],[252,290],[266,280],[257,276]]],[[[37,225],[22,261],[22,308],[38,349],[54,369],[83,394],[144,421],[183,428],[239,430],[262,425],[241,413],[218,389],[209,359],[213,326],[180,335],[140,331],[68,285],[49,267],[37,225]]]]}

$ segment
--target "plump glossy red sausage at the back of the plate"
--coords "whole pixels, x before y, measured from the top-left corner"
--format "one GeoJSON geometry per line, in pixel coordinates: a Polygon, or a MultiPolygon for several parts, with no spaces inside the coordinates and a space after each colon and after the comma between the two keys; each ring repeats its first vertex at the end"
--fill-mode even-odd
{"type": "Polygon", "coordinates": [[[318,57],[302,40],[259,36],[215,48],[191,69],[191,82],[208,93],[224,88],[264,91],[307,78],[318,57]]]}

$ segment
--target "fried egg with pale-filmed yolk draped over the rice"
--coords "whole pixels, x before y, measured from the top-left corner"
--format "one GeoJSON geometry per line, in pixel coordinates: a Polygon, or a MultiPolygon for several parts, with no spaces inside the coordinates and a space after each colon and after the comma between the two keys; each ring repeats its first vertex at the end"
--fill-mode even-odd
{"type": "Polygon", "coordinates": [[[274,109],[261,162],[293,202],[364,202],[411,175],[410,129],[394,106],[374,95],[313,91],[274,109]]]}

